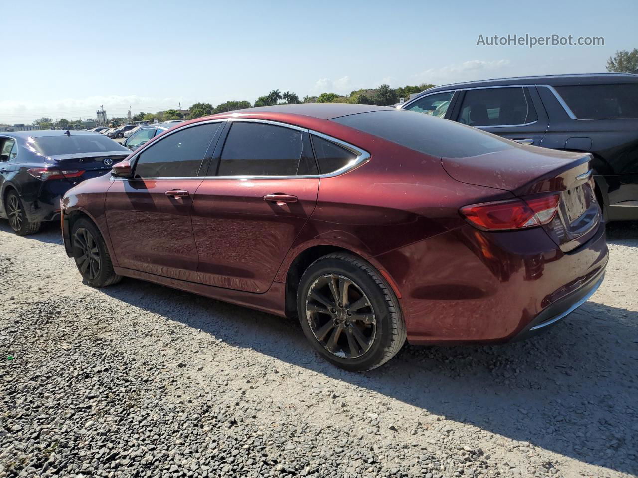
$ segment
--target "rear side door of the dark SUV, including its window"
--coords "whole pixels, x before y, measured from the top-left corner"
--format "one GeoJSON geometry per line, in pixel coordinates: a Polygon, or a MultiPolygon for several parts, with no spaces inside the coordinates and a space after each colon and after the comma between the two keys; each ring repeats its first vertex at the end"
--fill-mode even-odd
{"type": "Polygon", "coordinates": [[[547,113],[535,87],[493,87],[463,91],[454,119],[508,140],[539,146],[547,113]]]}

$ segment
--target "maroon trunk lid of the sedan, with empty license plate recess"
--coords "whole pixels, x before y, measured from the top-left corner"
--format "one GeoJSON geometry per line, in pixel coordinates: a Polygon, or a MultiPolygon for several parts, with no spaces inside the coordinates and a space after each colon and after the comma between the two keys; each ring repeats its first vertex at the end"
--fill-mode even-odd
{"type": "Polygon", "coordinates": [[[595,233],[600,208],[595,198],[590,154],[517,147],[441,164],[457,181],[510,191],[518,197],[560,192],[558,213],[542,226],[563,252],[576,249],[595,233]]]}

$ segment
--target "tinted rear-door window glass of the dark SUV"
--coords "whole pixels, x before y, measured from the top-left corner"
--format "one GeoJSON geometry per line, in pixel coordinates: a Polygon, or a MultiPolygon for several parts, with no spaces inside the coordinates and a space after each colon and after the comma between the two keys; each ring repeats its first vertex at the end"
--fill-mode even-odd
{"type": "Polygon", "coordinates": [[[468,126],[505,126],[536,121],[538,116],[526,88],[468,90],[459,122],[468,126]]]}

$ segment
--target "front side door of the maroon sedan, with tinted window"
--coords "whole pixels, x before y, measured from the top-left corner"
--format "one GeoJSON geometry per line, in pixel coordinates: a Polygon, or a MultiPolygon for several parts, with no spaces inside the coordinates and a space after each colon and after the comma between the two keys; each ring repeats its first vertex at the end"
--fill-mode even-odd
{"type": "Polygon", "coordinates": [[[168,134],[131,159],[133,178],[114,178],[105,210],[120,267],[197,282],[191,205],[222,126],[212,122],[168,134]]]}

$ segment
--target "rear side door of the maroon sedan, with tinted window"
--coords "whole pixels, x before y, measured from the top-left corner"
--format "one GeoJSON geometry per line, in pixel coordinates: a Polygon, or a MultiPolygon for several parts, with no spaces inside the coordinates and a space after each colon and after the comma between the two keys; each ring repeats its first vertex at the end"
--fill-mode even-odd
{"type": "Polygon", "coordinates": [[[232,120],[226,132],[193,199],[198,270],[204,284],[263,293],[315,208],[318,171],[306,130],[232,120]]]}

